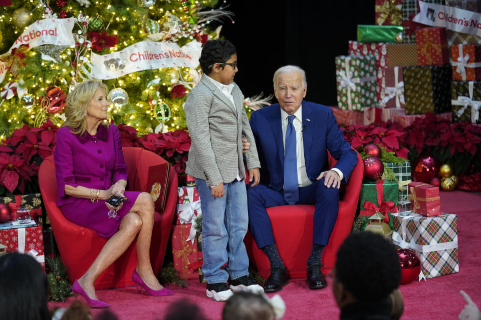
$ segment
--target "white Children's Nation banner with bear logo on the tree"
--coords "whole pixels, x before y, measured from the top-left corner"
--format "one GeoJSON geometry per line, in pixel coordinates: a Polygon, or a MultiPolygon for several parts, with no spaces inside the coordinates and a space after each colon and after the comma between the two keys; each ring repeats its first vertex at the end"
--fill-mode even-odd
{"type": "Polygon", "coordinates": [[[199,65],[201,46],[195,40],[182,47],[173,42],[141,41],[110,54],[92,53],[90,75],[105,80],[148,69],[173,66],[195,68],[199,65]]]}

